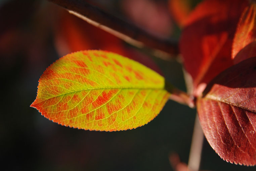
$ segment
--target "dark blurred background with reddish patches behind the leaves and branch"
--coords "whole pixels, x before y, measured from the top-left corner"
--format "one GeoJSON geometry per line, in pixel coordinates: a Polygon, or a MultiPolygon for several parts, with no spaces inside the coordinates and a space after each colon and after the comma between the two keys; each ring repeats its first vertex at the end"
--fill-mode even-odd
{"type": "MultiPolygon", "coordinates": [[[[183,19],[200,1],[94,0],[100,8],[158,37],[178,41],[183,19]],[[182,1],[183,2],[183,1],[182,1]]],[[[174,170],[188,162],[196,110],[168,101],[150,123],[127,131],[58,125],[30,104],[43,71],[78,50],[113,51],[164,75],[185,91],[182,66],[163,61],[87,24],[46,0],[0,1],[1,170],[174,170]]],[[[204,140],[200,170],[255,170],[223,161],[204,140]]]]}

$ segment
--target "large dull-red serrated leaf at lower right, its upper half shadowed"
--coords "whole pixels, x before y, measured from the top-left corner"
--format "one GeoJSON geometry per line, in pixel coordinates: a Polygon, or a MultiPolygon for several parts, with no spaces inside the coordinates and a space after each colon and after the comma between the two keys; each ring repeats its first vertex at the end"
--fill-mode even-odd
{"type": "Polygon", "coordinates": [[[197,102],[211,147],[227,162],[256,164],[256,57],[220,73],[197,102]]]}

